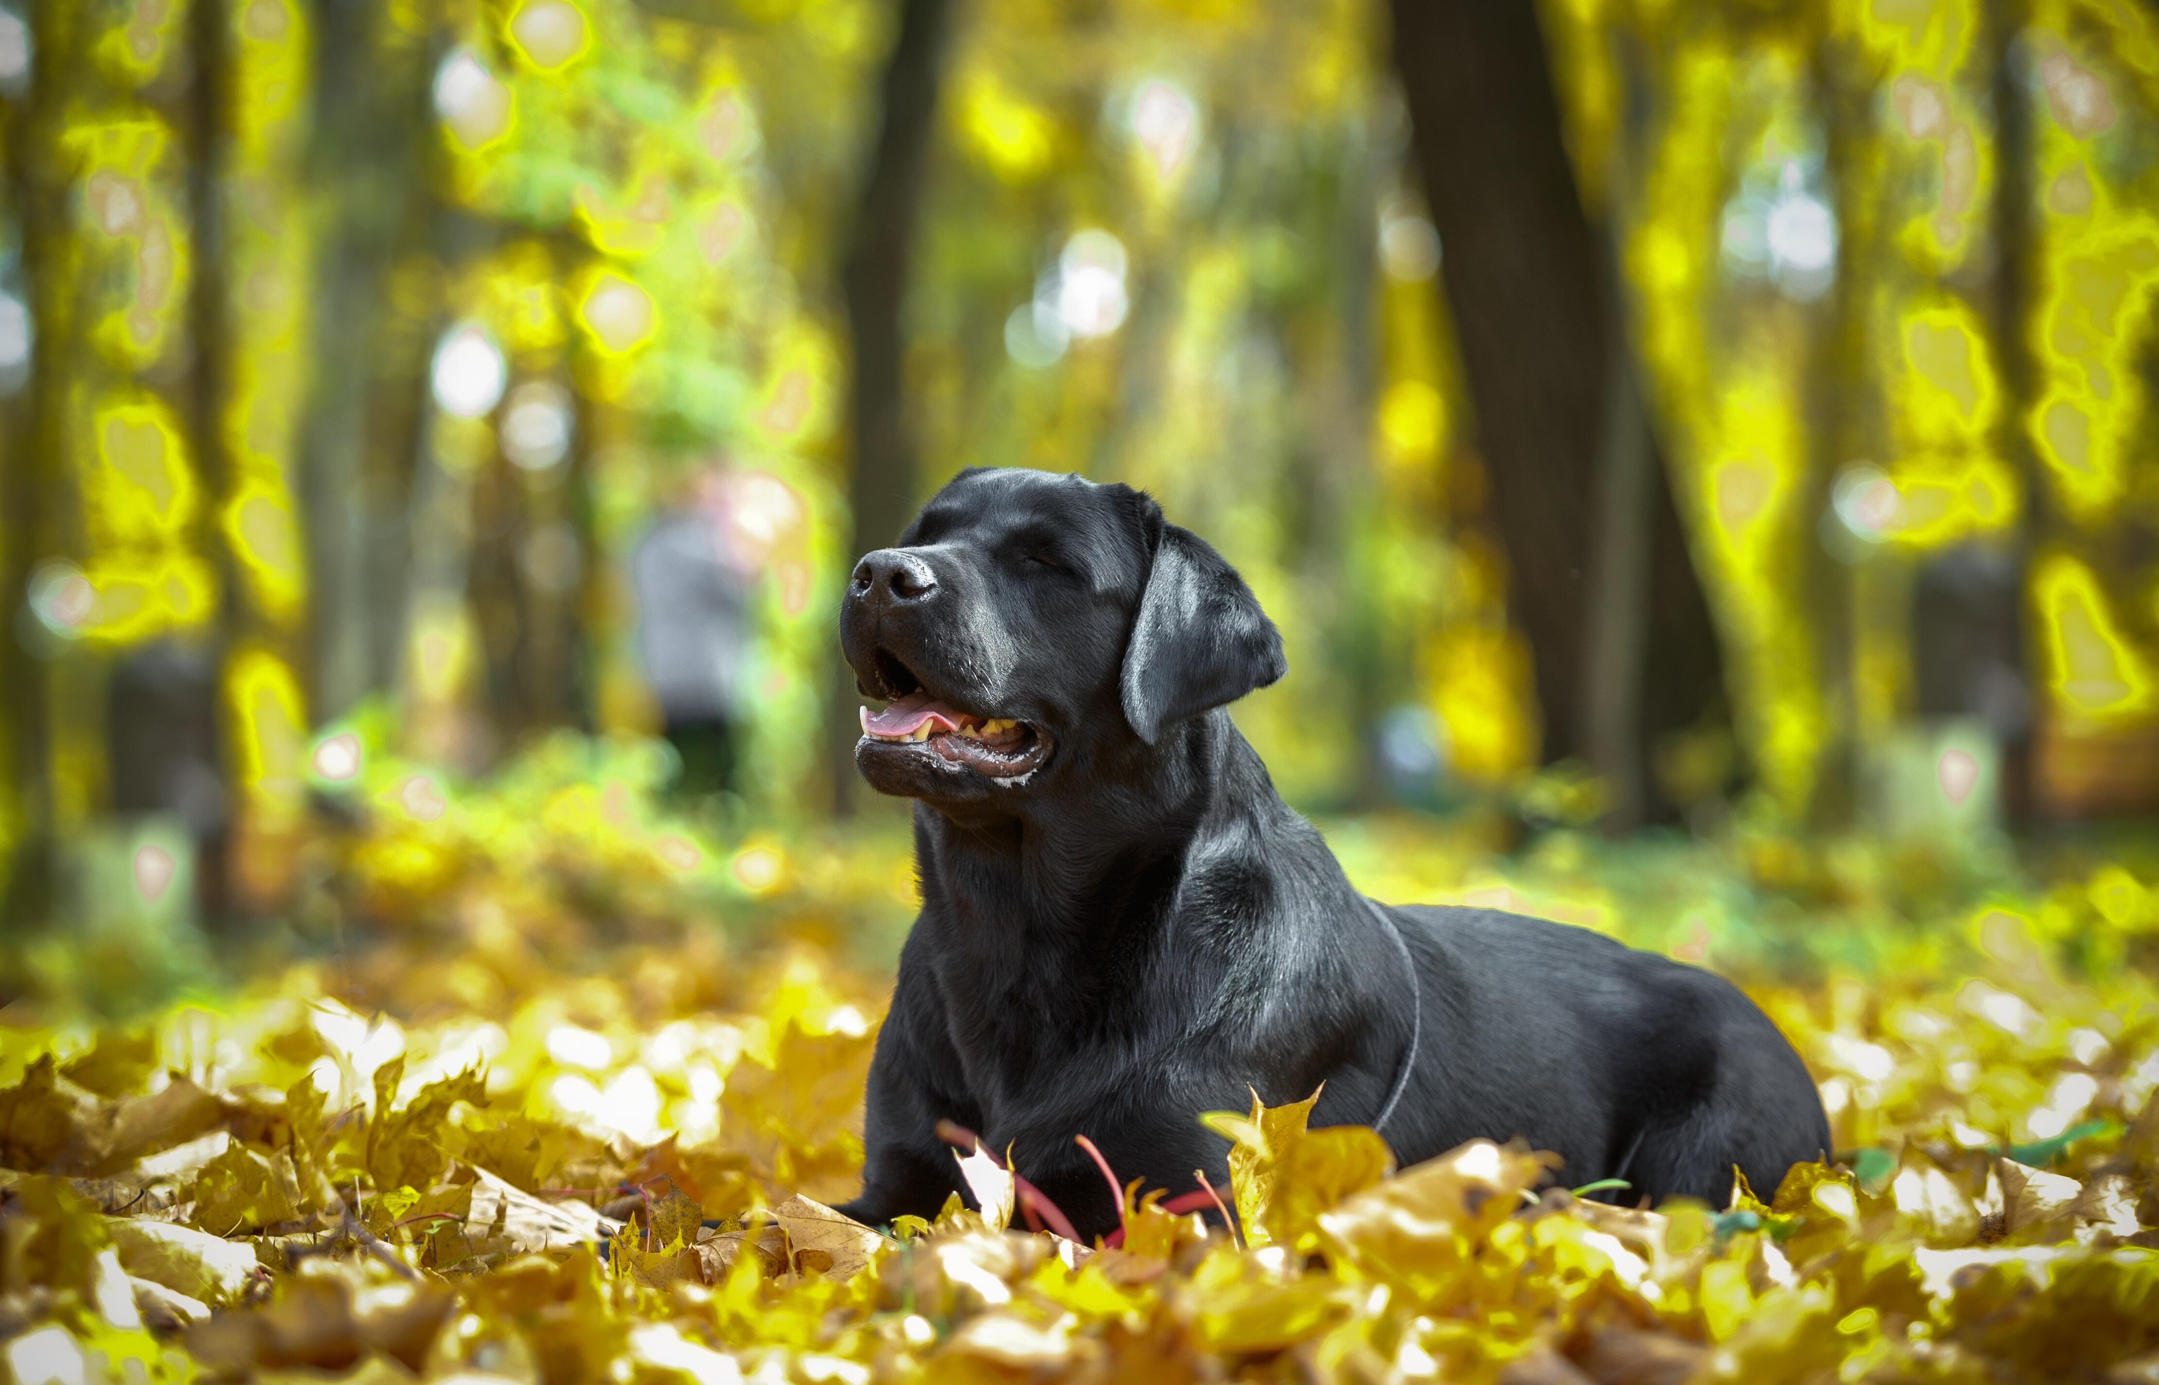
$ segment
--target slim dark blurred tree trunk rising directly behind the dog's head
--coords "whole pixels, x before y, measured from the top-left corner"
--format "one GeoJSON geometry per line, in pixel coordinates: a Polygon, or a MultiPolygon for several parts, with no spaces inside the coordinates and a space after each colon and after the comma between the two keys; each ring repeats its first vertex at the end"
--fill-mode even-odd
{"type": "MultiPolygon", "coordinates": [[[[937,121],[952,0],[900,0],[892,56],[879,84],[877,142],[864,164],[855,227],[840,270],[853,345],[848,442],[855,516],[848,563],[900,537],[915,505],[915,449],[902,408],[907,341],[900,311],[920,220],[937,121]]],[[[855,677],[844,667],[836,686],[833,798],[844,811],[855,794],[855,677]]]]}

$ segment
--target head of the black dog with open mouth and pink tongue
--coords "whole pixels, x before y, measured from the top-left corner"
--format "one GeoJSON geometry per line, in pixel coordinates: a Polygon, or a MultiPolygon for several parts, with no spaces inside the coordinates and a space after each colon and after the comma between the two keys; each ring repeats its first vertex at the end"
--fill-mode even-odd
{"type": "Polygon", "coordinates": [[[1285,671],[1244,578],[1129,485],[965,470],[855,565],[855,764],[937,805],[1045,796],[1285,671]]]}

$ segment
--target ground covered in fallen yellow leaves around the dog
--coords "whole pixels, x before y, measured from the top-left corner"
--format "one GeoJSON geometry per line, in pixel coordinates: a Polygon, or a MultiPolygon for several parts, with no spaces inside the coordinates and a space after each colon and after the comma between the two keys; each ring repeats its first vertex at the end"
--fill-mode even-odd
{"type": "Polygon", "coordinates": [[[1738,977],[1837,1163],[1621,1208],[1533,1150],[1395,1169],[1300,1107],[1213,1113],[1241,1234],[1133,1189],[1108,1249],[1028,1232],[982,1154],[935,1223],[829,1210],[900,835],[676,818],[572,751],[484,794],[410,779],[313,839],[274,958],[125,1018],[58,984],[0,1012],[15,1385],[2159,1381],[2148,844],[1334,824],[1382,897],[1738,977]]]}

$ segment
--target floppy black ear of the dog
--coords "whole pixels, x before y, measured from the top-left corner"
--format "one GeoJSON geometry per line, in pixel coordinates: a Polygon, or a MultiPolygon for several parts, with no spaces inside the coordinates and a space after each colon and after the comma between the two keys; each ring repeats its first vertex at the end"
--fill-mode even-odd
{"type": "Polygon", "coordinates": [[[1162,524],[1140,617],[1125,645],[1125,721],[1155,744],[1162,727],[1265,688],[1289,662],[1282,632],[1207,539],[1162,524]]]}

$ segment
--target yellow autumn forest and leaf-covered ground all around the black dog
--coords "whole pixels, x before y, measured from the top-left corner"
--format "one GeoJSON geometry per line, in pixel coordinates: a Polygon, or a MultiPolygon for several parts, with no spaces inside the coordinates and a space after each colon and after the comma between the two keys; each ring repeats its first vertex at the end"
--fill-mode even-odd
{"type": "Polygon", "coordinates": [[[0,0],[0,155],[17,1385],[2159,1379],[2148,0],[0,0]],[[1833,1163],[818,1221],[833,613],[963,466],[1207,535],[1360,887],[1732,975],[1833,1163]]]}

